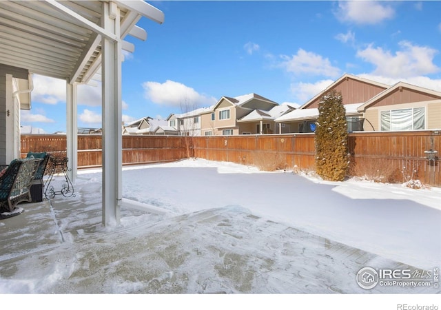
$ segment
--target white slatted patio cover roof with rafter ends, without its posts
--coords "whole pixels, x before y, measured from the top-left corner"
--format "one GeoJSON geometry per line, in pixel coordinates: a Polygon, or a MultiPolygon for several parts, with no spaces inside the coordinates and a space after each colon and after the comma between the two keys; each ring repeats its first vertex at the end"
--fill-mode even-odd
{"type": "MultiPolygon", "coordinates": [[[[147,39],[141,17],[163,23],[163,12],[143,0],[115,1],[121,38],[147,39]]],[[[88,83],[101,68],[103,1],[0,1],[0,63],[30,72],[88,83]]],[[[123,42],[132,52],[134,45],[123,42]]]]}

